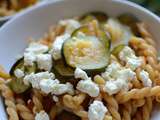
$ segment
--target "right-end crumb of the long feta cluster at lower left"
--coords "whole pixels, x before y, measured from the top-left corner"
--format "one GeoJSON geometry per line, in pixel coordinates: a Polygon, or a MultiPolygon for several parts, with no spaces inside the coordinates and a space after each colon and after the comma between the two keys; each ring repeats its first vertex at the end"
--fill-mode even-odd
{"type": "Polygon", "coordinates": [[[64,93],[74,94],[73,85],[71,83],[66,84],[54,84],[52,86],[52,94],[62,95],[64,93]]]}

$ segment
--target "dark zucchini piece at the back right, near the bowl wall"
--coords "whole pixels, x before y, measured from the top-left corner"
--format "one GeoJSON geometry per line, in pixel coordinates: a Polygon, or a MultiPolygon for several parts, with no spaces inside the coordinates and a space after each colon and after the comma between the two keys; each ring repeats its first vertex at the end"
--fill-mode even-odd
{"type": "Polygon", "coordinates": [[[121,14],[120,16],[118,16],[118,19],[119,21],[122,23],[122,24],[125,24],[125,25],[128,25],[131,27],[133,33],[135,35],[138,35],[139,36],[139,33],[138,33],[138,29],[137,29],[137,26],[136,26],[136,23],[140,22],[139,19],[137,17],[135,17],[134,15],[132,14],[129,14],[129,13],[125,13],[125,14],[121,14]]]}

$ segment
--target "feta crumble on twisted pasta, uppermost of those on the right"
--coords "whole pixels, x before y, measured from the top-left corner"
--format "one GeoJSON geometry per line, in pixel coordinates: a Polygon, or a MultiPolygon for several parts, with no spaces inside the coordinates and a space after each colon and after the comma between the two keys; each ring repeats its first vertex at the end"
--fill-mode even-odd
{"type": "Polygon", "coordinates": [[[120,60],[126,62],[126,66],[132,70],[135,70],[142,64],[142,59],[137,57],[134,51],[128,46],[124,47],[122,51],[120,51],[119,58],[120,60]]]}

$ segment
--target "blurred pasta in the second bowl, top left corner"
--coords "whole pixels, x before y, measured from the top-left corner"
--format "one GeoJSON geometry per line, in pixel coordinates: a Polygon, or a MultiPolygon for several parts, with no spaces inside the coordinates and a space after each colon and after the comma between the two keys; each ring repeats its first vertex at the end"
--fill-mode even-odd
{"type": "Polygon", "coordinates": [[[1,0],[0,17],[11,16],[36,2],[38,2],[38,0],[1,0]]]}

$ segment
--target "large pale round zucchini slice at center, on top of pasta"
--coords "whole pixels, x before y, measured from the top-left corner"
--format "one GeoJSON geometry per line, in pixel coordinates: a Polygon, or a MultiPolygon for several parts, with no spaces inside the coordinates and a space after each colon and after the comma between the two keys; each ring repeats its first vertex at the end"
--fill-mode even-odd
{"type": "Polygon", "coordinates": [[[99,70],[108,64],[108,49],[94,36],[71,37],[63,44],[63,56],[66,63],[73,68],[99,70]]]}

